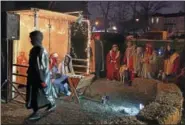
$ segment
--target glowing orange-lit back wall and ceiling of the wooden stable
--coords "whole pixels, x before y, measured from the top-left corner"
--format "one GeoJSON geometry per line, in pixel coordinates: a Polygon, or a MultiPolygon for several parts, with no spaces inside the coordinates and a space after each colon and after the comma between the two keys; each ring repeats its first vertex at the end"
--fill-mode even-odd
{"type": "MultiPolygon", "coordinates": [[[[20,15],[20,39],[14,41],[13,63],[17,64],[17,58],[20,53],[24,52],[27,60],[29,59],[29,51],[32,48],[30,44],[29,33],[35,29],[34,11],[23,10],[15,11],[20,15]]],[[[37,30],[43,32],[43,46],[47,49],[48,53],[58,53],[59,61],[62,61],[65,54],[67,54],[70,47],[69,24],[76,21],[78,17],[58,12],[51,12],[47,10],[38,11],[37,30]]],[[[22,65],[22,64],[20,64],[22,65]]],[[[24,65],[25,62],[24,62],[24,65]]],[[[26,68],[13,67],[14,73],[26,75],[26,68]]],[[[13,81],[17,83],[26,84],[26,78],[13,77],[13,81]]]]}

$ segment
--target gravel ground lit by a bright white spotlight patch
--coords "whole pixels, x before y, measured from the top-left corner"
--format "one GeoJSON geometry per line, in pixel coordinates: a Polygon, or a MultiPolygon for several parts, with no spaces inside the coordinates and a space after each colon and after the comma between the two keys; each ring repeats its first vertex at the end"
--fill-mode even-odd
{"type": "Polygon", "coordinates": [[[119,82],[100,79],[92,84],[91,91],[87,90],[85,95],[90,95],[100,101],[101,97],[107,94],[110,96],[110,101],[106,105],[86,99],[81,99],[80,105],[57,100],[56,111],[39,121],[28,122],[26,118],[31,111],[22,104],[11,102],[1,105],[1,120],[3,124],[90,124],[97,120],[111,119],[117,116],[136,115],[139,112],[139,104],[147,103],[154,93],[146,94],[145,89],[148,86],[151,84],[141,83],[141,85],[135,84],[132,87],[126,87],[119,82]]]}

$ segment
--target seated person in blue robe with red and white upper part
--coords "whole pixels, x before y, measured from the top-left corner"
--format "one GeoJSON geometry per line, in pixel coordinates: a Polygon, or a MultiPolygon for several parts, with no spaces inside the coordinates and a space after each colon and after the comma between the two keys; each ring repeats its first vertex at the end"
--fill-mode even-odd
{"type": "Polygon", "coordinates": [[[68,76],[61,74],[58,70],[57,65],[58,54],[53,53],[50,56],[50,71],[51,71],[51,81],[54,84],[58,94],[64,93],[69,96],[71,92],[69,91],[68,76]]]}

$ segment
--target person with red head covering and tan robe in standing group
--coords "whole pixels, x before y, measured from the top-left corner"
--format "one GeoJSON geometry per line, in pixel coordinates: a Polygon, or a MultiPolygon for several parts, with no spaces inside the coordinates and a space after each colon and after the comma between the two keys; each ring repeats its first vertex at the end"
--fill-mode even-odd
{"type": "Polygon", "coordinates": [[[150,60],[152,59],[153,54],[153,47],[151,43],[147,43],[145,47],[144,57],[142,60],[143,63],[143,69],[142,69],[142,77],[151,79],[151,73],[152,73],[152,65],[150,63],[150,60]]]}

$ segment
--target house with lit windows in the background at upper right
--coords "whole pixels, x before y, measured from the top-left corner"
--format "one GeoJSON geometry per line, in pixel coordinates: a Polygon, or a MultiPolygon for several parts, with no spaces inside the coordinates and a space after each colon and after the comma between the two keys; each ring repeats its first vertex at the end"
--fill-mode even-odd
{"type": "Polygon", "coordinates": [[[169,34],[184,34],[185,12],[161,14],[156,13],[149,19],[151,31],[167,31],[169,34]]]}

